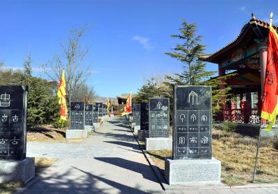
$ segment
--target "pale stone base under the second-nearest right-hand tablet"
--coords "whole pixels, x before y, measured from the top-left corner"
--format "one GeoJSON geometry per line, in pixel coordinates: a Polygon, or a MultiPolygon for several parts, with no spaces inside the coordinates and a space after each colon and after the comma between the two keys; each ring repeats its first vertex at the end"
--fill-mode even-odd
{"type": "Polygon", "coordinates": [[[145,148],[146,150],[172,150],[172,138],[146,138],[145,148]]]}

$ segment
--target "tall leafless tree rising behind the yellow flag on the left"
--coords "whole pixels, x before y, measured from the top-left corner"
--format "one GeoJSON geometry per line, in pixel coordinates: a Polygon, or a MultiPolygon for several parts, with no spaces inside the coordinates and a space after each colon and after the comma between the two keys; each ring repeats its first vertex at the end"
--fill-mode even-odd
{"type": "Polygon", "coordinates": [[[75,90],[85,84],[90,76],[89,67],[83,66],[83,60],[88,54],[89,48],[81,48],[81,39],[86,28],[70,30],[66,44],[60,44],[62,48],[61,55],[54,55],[54,59],[47,64],[42,65],[44,73],[52,80],[58,82],[65,69],[65,80],[67,87],[67,100],[72,100],[75,90]]]}

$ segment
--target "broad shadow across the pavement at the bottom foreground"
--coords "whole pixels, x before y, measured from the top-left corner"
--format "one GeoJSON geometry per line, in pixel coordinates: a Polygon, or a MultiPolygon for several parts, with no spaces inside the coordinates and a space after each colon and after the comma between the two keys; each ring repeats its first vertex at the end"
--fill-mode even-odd
{"type": "MultiPolygon", "coordinates": [[[[58,175],[54,173],[49,178],[41,178],[38,182],[29,186],[28,189],[20,194],[37,194],[37,193],[60,193],[60,194],[89,194],[89,193],[146,193],[140,186],[130,187],[118,182],[114,182],[104,177],[93,175],[79,168],[73,167],[66,173],[58,175]],[[72,179],[74,171],[79,170],[83,175],[78,179],[72,179]]],[[[160,193],[149,191],[150,193],[160,193]]],[[[18,193],[19,194],[19,193],[18,193]]]]}

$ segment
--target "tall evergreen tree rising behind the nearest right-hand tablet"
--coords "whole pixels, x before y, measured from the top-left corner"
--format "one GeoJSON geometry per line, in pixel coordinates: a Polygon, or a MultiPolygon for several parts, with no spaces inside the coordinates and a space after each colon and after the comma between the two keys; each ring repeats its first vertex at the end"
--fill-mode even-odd
{"type": "Polygon", "coordinates": [[[202,36],[197,35],[197,25],[195,23],[188,24],[183,20],[179,35],[171,35],[171,37],[181,40],[181,44],[174,47],[174,52],[165,53],[170,57],[179,60],[183,63],[183,72],[175,73],[175,77],[166,76],[167,85],[211,85],[213,87],[213,114],[220,110],[220,105],[227,96],[229,87],[220,89],[219,85],[225,84],[225,80],[229,76],[221,78],[211,78],[217,71],[207,71],[206,63],[199,60],[201,55],[204,55],[205,45],[201,44],[202,36]]]}

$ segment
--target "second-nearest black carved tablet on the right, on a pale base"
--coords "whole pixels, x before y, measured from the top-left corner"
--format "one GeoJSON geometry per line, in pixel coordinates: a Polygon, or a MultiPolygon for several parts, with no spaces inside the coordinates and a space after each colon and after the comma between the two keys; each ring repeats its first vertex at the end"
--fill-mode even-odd
{"type": "Polygon", "coordinates": [[[149,137],[169,137],[169,98],[149,98],[149,137]]]}

